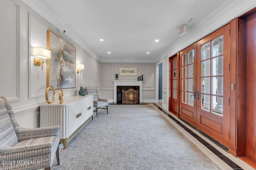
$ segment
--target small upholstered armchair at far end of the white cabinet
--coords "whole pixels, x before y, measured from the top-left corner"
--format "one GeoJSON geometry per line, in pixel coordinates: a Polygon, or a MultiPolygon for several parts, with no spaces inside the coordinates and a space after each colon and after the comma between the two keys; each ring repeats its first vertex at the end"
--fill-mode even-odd
{"type": "Polygon", "coordinates": [[[108,99],[100,99],[98,96],[98,90],[96,87],[86,87],[86,94],[93,95],[93,107],[96,107],[96,115],[98,117],[98,108],[107,109],[108,114],[108,99]],[[106,106],[106,108],[104,108],[106,106]]]}

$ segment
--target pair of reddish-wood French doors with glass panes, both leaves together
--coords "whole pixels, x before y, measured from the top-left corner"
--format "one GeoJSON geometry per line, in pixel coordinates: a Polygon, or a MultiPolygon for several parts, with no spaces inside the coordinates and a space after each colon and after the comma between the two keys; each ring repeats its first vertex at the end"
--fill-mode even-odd
{"type": "Polygon", "coordinates": [[[230,24],[180,52],[179,117],[229,146],[230,24]]]}

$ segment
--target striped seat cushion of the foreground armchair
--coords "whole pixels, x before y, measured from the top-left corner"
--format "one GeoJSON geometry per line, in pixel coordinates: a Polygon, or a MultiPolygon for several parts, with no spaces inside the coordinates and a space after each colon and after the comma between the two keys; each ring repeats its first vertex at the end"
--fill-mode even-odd
{"type": "MultiPolygon", "coordinates": [[[[51,164],[53,162],[54,154],[59,146],[60,138],[58,136],[50,136],[50,137],[40,137],[35,139],[29,139],[26,141],[21,141],[16,143],[13,147],[22,147],[26,145],[35,145],[35,144],[42,144],[42,143],[51,143],[52,150],[51,150],[51,164]]],[[[45,153],[48,154],[48,153],[45,153]]]]}

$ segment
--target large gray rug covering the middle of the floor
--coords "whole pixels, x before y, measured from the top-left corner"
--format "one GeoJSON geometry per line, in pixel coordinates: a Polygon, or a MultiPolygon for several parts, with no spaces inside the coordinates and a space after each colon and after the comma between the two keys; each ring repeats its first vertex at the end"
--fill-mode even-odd
{"type": "Polygon", "coordinates": [[[60,151],[53,170],[216,170],[153,106],[110,105],[60,151]]]}

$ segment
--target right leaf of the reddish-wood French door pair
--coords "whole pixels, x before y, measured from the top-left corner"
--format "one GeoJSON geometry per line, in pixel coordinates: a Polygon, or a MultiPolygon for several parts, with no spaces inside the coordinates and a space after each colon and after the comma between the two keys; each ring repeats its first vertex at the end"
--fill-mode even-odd
{"type": "Polygon", "coordinates": [[[229,146],[230,24],[197,42],[196,127],[229,146]]]}

